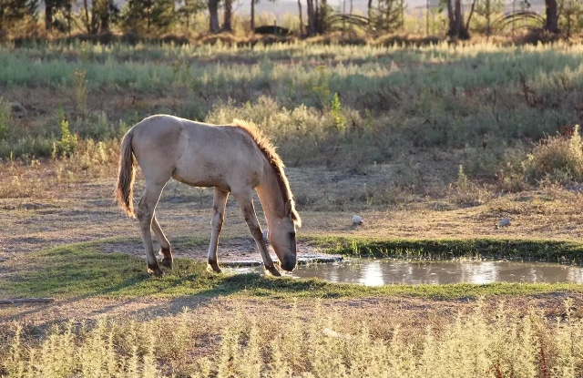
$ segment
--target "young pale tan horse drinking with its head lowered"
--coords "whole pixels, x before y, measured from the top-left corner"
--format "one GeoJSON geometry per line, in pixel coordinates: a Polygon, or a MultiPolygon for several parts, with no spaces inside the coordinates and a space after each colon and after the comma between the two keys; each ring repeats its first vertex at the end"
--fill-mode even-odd
{"type": "Polygon", "coordinates": [[[152,234],[159,240],[160,264],[172,269],[169,240],[156,219],[156,206],[169,179],[194,187],[214,188],[207,271],[220,273],[217,260],[220,230],[229,195],[236,199],[257,243],[266,273],[280,276],[263,239],[253,205],[257,192],[267,221],[268,240],[284,271],[296,265],[296,227],[302,220],[293,200],[284,165],[269,138],[245,121],[211,125],[169,115],[144,118],[121,141],[115,198],[123,212],[138,218],[148,273],[163,273],[154,254],[152,234]],[[136,161],[146,181],[134,211],[136,161]]]}

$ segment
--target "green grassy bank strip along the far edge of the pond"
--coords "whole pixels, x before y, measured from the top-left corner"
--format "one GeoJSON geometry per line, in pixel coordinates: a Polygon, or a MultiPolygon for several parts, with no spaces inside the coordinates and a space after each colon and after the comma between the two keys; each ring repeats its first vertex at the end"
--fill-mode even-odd
{"type": "Polygon", "coordinates": [[[547,261],[580,265],[583,243],[567,240],[441,239],[372,240],[370,238],[312,238],[330,253],[348,256],[449,260],[458,258],[547,261]]]}

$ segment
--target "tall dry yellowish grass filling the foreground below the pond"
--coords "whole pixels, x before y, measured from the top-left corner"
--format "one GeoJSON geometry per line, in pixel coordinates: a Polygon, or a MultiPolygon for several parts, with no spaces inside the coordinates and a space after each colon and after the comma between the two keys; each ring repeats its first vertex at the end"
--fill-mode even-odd
{"type": "Polygon", "coordinates": [[[180,311],[184,302],[173,303],[170,316],[168,305],[158,305],[158,313],[126,314],[123,321],[101,316],[46,328],[9,322],[2,332],[0,373],[47,378],[583,373],[583,322],[575,310],[580,298],[473,303],[235,299],[180,311]],[[543,302],[545,310],[537,310],[543,302]]]}

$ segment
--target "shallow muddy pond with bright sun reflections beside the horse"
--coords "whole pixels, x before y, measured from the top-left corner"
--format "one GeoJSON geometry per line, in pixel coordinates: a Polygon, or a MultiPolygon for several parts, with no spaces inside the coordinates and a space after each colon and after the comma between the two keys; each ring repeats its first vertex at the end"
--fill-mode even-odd
{"type": "MultiPolygon", "coordinates": [[[[230,268],[261,272],[261,267],[230,268]]],[[[517,261],[399,261],[359,259],[299,265],[287,276],[366,286],[445,283],[583,283],[583,267],[517,261]]]]}

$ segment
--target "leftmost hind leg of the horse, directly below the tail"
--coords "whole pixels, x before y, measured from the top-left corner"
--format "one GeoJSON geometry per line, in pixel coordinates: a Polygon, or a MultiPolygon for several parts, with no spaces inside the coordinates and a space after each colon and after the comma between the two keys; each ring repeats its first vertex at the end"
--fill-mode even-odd
{"type": "MultiPolygon", "coordinates": [[[[144,250],[146,250],[146,261],[148,261],[148,272],[159,277],[162,275],[156,255],[154,254],[154,245],[152,243],[152,220],[154,219],[154,211],[158,204],[160,193],[164,189],[164,185],[150,184],[146,181],[146,190],[142,198],[139,199],[138,210],[136,216],[139,220],[139,227],[142,231],[142,241],[144,242],[144,250]]],[[[158,222],[156,222],[158,225],[158,222]]],[[[155,226],[156,227],[156,226],[155,226]]],[[[158,225],[159,228],[159,225],[158,225]]],[[[166,238],[164,238],[166,239],[166,238]]]]}

